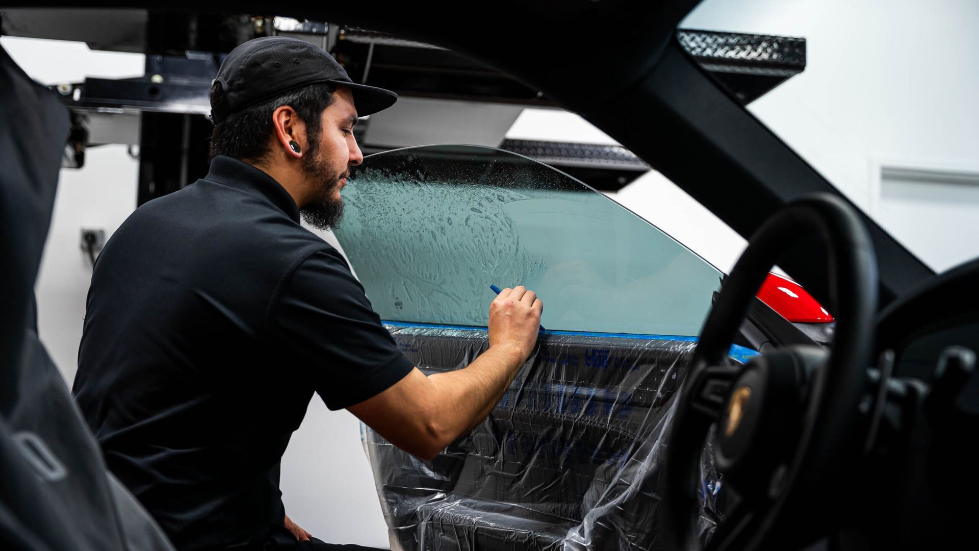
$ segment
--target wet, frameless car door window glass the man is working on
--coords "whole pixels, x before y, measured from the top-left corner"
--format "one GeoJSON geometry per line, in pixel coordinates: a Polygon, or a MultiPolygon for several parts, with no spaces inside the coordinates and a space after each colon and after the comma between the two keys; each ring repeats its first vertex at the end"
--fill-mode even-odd
{"type": "Polygon", "coordinates": [[[722,274],[571,176],[478,146],[365,159],[336,236],[386,321],[486,326],[526,285],[552,330],[694,336],[722,274]]]}

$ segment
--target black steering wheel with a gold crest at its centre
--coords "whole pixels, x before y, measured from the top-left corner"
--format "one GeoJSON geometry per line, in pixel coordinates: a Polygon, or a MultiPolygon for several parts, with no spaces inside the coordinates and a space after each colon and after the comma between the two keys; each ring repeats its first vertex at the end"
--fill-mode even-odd
{"type": "Polygon", "coordinates": [[[789,549],[819,535],[814,515],[820,521],[832,515],[819,504],[839,488],[865,436],[861,401],[876,270],[860,217],[828,193],[789,203],[751,238],[704,324],[677,396],[663,464],[662,529],[670,549],[789,549]],[[771,266],[814,233],[828,252],[837,320],[832,350],[785,347],[732,365],[728,349],[771,266]],[[709,432],[723,488],[739,499],[704,545],[696,533],[697,488],[709,432]]]}

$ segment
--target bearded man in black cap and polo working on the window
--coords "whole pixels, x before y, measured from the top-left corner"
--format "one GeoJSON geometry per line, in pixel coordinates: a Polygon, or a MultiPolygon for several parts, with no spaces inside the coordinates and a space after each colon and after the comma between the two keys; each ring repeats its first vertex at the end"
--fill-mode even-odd
{"type": "Polygon", "coordinates": [[[278,488],[314,391],[428,459],[489,415],[532,351],[540,300],[504,289],[489,350],[424,376],[300,225],[339,220],[362,161],[352,127],[395,101],[300,40],[239,46],[211,93],[209,174],[137,209],[99,256],[73,391],[178,548],[332,548],[288,520],[278,488]]]}

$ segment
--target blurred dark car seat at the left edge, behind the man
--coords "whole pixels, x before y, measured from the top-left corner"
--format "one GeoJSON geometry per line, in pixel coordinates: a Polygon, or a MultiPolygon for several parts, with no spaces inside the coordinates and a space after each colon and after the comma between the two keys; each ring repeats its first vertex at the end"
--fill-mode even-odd
{"type": "Polygon", "coordinates": [[[37,335],[33,285],[68,133],[58,95],[0,46],[0,549],[170,550],[106,470],[37,335]]]}

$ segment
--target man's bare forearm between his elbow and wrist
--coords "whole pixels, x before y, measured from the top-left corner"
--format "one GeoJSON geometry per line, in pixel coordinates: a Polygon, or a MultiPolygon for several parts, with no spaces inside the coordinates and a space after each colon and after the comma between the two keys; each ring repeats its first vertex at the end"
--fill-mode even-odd
{"type": "Polygon", "coordinates": [[[439,397],[434,423],[443,437],[454,440],[486,419],[523,365],[519,351],[490,347],[464,369],[429,376],[439,397]]]}

